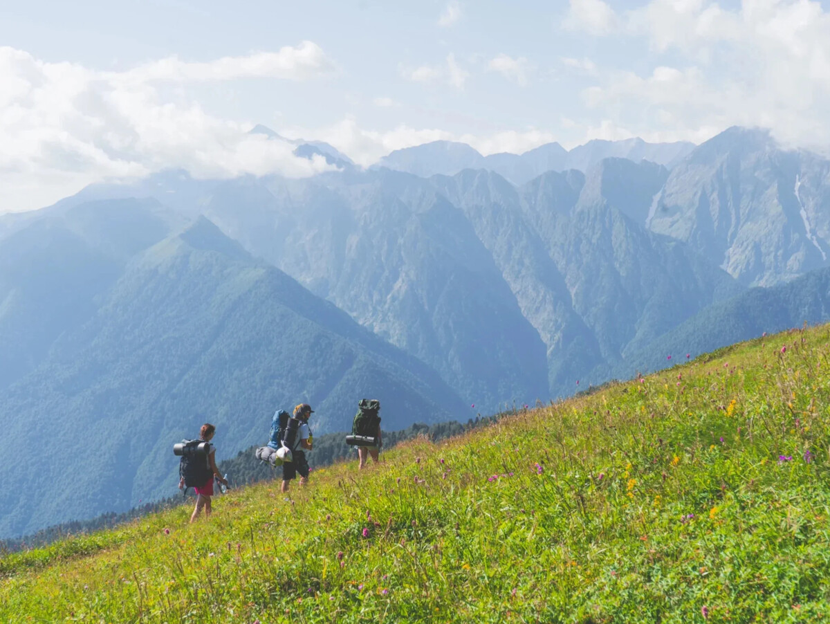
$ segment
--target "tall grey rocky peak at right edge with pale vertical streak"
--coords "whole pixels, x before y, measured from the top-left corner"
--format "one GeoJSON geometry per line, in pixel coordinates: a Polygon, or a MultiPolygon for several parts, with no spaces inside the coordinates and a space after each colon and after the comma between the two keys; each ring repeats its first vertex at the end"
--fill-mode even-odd
{"type": "Polygon", "coordinates": [[[828,266],[830,161],[763,130],[726,130],[671,170],[647,224],[745,285],[791,280],[828,266]]]}

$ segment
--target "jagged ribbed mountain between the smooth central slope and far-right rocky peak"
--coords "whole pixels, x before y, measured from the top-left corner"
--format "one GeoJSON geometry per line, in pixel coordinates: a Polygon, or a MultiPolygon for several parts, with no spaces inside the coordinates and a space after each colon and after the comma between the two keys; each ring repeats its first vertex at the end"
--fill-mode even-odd
{"type": "Polygon", "coordinates": [[[435,183],[461,206],[522,313],[544,340],[553,396],[740,287],[688,246],[640,219],[665,168],[603,161],[588,178],[546,173],[518,191],[495,173],[435,183]],[[631,181],[644,189],[631,193],[631,181]]]}

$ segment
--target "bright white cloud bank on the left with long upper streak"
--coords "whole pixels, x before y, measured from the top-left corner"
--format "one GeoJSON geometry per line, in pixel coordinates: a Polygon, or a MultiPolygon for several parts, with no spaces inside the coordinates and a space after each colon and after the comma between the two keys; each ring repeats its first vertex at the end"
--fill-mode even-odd
{"type": "Polygon", "coordinates": [[[299,80],[332,66],[304,42],[276,56],[209,63],[150,63],[115,73],[49,63],[0,47],[0,212],[40,207],[105,178],[186,168],[197,177],[280,172],[312,175],[325,162],[296,158],[293,146],[247,134],[183,95],[164,98],[155,80],[299,80]]]}

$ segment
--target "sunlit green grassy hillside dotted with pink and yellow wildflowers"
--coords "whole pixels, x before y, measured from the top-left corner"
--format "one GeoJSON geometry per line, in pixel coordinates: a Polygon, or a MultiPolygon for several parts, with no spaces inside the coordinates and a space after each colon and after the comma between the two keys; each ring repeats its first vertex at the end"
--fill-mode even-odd
{"type": "Polygon", "coordinates": [[[818,622],[830,327],[0,558],[2,622],[818,622]]]}

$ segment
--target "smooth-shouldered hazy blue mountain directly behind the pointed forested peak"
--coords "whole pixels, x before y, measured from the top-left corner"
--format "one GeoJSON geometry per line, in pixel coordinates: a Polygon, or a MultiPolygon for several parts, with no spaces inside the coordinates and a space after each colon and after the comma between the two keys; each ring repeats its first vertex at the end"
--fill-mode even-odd
{"type": "Polygon", "coordinates": [[[464,213],[427,180],[382,169],[229,182],[205,214],[482,410],[548,396],[539,334],[464,213]]]}

